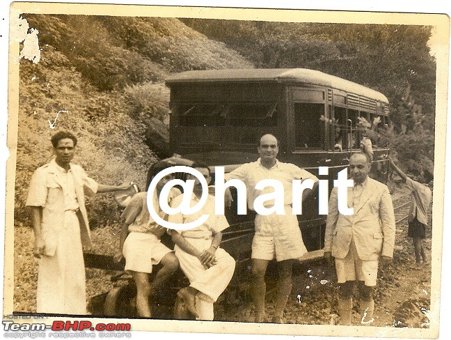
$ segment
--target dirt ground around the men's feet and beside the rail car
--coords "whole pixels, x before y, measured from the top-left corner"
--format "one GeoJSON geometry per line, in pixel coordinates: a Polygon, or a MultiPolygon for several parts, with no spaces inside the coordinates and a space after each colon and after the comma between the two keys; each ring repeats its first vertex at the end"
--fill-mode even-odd
{"type": "MultiPolygon", "coordinates": [[[[394,206],[406,201],[405,192],[396,189],[393,192],[394,206]]],[[[406,215],[406,211],[396,213],[397,219],[406,215]]],[[[427,229],[425,245],[430,258],[432,229],[427,229]]],[[[118,244],[118,226],[111,226],[93,231],[93,252],[98,254],[114,254],[118,244]],[[106,250],[106,251],[105,251],[106,250]]],[[[406,300],[411,300],[422,311],[429,310],[429,295],[431,293],[431,267],[422,265],[416,267],[411,239],[406,238],[406,220],[397,224],[395,254],[393,265],[380,270],[378,286],[375,293],[375,326],[393,327],[394,313],[406,300]]],[[[15,283],[14,310],[35,312],[35,286],[37,281],[37,261],[32,256],[31,228],[15,226],[15,283]]],[[[88,299],[115,286],[110,277],[117,272],[86,269],[88,299]]],[[[294,268],[293,288],[285,309],[286,323],[298,324],[333,324],[339,323],[337,309],[338,288],[334,268],[324,261],[315,261],[294,268]]],[[[274,310],[271,289],[271,277],[268,279],[267,317],[271,320],[274,310]]],[[[242,292],[233,296],[227,295],[215,305],[215,319],[228,321],[252,321],[253,307],[242,292]]],[[[353,323],[358,325],[360,312],[358,303],[354,306],[353,323]]],[[[421,314],[424,316],[424,314],[421,314]]],[[[409,321],[410,327],[427,327],[422,320],[409,321]]]]}

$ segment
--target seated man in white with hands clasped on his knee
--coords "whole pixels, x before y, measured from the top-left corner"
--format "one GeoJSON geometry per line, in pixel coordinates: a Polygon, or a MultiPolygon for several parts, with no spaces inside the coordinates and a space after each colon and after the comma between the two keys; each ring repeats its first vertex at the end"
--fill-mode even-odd
{"type": "MultiPolygon", "coordinates": [[[[209,182],[211,177],[207,166],[193,164],[192,167],[202,173],[209,182]]],[[[189,175],[188,179],[194,180],[189,202],[190,207],[193,207],[202,196],[202,186],[198,178],[189,175]]],[[[171,206],[178,207],[183,200],[184,195],[177,196],[171,206]]],[[[219,247],[222,240],[221,231],[228,228],[229,224],[224,215],[214,214],[214,196],[210,194],[205,206],[198,212],[191,215],[178,212],[168,217],[169,222],[187,224],[205,214],[209,215],[209,218],[196,228],[171,230],[175,255],[190,282],[190,285],[180,289],[177,295],[184,300],[196,320],[213,320],[213,304],[227,288],[235,272],[235,260],[219,247]]]]}

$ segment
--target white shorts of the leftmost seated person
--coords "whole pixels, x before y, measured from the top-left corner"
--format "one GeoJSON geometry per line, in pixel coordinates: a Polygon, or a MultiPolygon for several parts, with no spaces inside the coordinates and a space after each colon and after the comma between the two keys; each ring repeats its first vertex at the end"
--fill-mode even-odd
{"type": "Polygon", "coordinates": [[[171,249],[152,233],[129,233],[122,249],[125,270],[151,273],[152,265],[170,252],[171,249]]]}

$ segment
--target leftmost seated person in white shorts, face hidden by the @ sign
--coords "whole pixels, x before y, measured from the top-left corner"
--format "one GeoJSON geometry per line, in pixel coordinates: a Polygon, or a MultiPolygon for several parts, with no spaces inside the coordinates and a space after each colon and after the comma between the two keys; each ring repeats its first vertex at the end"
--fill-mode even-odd
{"type": "MultiPolygon", "coordinates": [[[[165,217],[165,213],[159,210],[159,194],[161,188],[171,179],[173,179],[173,174],[161,178],[157,183],[157,190],[154,192],[154,207],[161,218],[165,217]]],[[[150,182],[147,183],[147,187],[149,185],[150,182]]],[[[171,203],[174,197],[180,194],[180,190],[172,187],[168,194],[168,203],[171,203]]],[[[161,236],[166,233],[167,229],[157,224],[150,216],[147,196],[148,192],[135,194],[122,212],[120,250],[114,257],[118,262],[121,261],[122,256],[125,258],[125,270],[134,279],[138,316],[150,318],[152,316],[149,304],[150,294],[154,293],[173,275],[179,263],[171,249],[160,241],[161,236]],[[160,262],[163,267],[157,272],[151,283],[149,277],[152,272],[152,265],[160,262]]]]}

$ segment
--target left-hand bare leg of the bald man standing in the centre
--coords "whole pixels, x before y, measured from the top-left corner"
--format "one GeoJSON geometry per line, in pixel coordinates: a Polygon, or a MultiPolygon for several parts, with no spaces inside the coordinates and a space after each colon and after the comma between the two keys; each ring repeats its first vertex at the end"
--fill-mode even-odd
{"type": "Polygon", "coordinates": [[[264,275],[269,261],[252,258],[251,297],[255,304],[255,322],[264,322],[264,295],[266,284],[264,275]]]}

